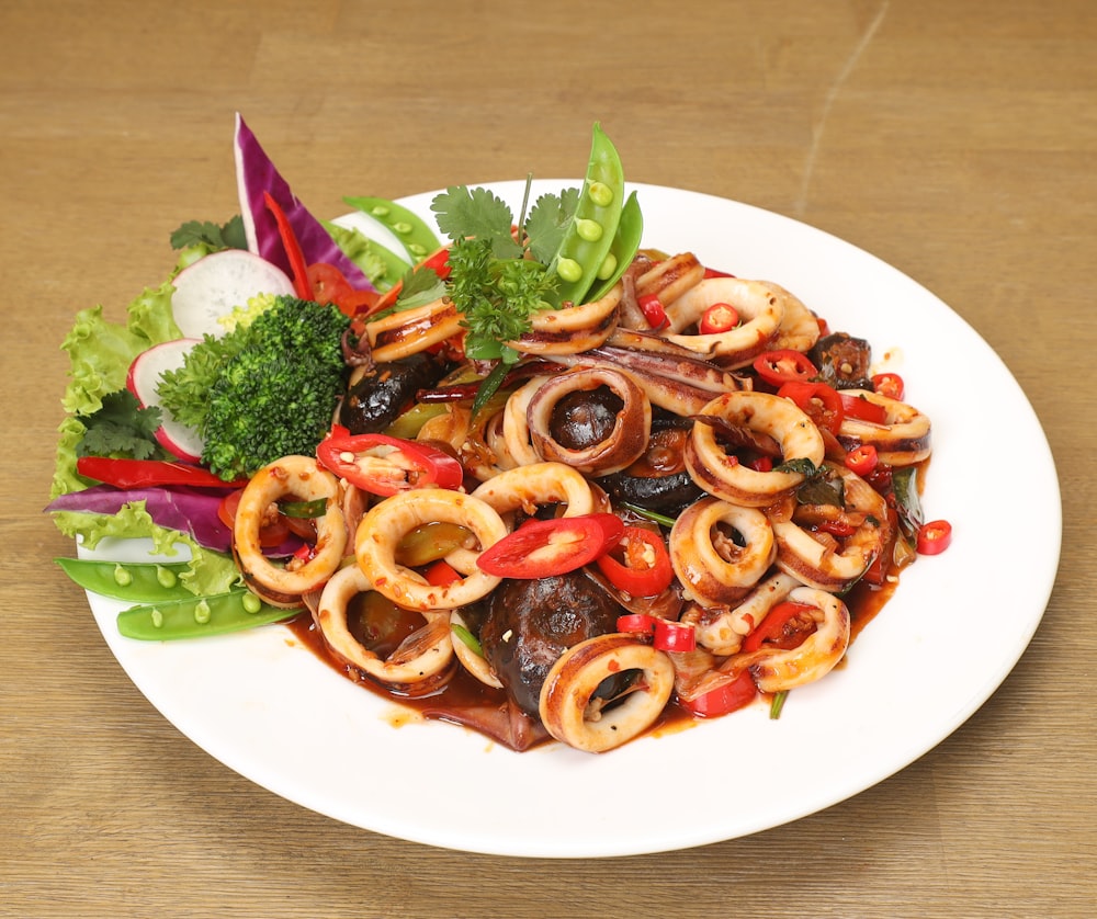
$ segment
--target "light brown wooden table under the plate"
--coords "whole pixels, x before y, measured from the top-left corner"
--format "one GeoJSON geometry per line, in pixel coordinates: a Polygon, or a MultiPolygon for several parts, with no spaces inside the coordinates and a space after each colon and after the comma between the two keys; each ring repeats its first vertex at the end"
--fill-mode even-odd
{"type": "MultiPolygon", "coordinates": [[[[0,915],[1093,915],[1097,7],[309,8],[0,4],[0,915]],[[52,564],[72,545],[41,511],[73,314],[102,303],[120,318],[169,265],[170,229],[236,212],[236,110],[323,216],[349,193],[573,175],[601,120],[633,181],[799,218],[934,291],[1019,381],[1061,477],[1060,576],[1016,669],[939,747],[852,799],[657,855],[437,850],[318,816],[212,759],[115,662],[52,564]]],[[[964,367],[941,372],[980,393],[964,367]]],[[[1051,536],[1028,525],[1027,445],[1009,436],[971,456],[971,480],[1015,466],[1000,499],[1017,509],[1016,556],[972,577],[1024,577],[1027,547],[1051,536]]]]}

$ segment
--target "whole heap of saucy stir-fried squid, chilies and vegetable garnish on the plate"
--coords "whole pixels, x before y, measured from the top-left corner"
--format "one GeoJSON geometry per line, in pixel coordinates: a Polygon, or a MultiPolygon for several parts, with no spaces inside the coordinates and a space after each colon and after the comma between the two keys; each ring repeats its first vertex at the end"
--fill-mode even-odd
{"type": "Polygon", "coordinates": [[[314,217],[239,116],[235,152],[240,215],[63,344],[47,510],[151,542],[58,559],[123,636],[284,621],[428,717],[601,752],[776,718],[948,546],[903,381],[777,283],[643,248],[598,125],[581,188],[517,214],[347,198],[388,235],[314,217]]]}

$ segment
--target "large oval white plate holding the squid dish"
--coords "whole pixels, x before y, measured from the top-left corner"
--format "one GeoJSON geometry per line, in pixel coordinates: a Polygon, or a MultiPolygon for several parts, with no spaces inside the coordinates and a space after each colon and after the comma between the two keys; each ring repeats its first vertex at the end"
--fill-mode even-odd
{"type": "MultiPolygon", "coordinates": [[[[521,205],[523,184],[493,188],[521,205]]],[[[534,193],[578,182],[541,181],[534,193]]],[[[830,327],[894,351],[907,400],[934,422],[924,503],[954,526],[857,638],[848,662],[796,690],[780,721],[758,704],[602,756],[558,745],[513,753],[439,723],[396,726],[289,631],[148,644],[118,636],[121,604],[91,597],[118,661],[148,700],[230,769],[297,804],[388,836],[493,854],[577,858],[700,846],[795,820],[930,750],[994,692],[1028,645],[1059,564],[1059,483],[1021,389],[932,294],[872,256],[794,220],[692,192],[636,185],[645,245],[693,251],[776,281],[830,327]],[[976,388],[970,388],[974,385],[976,388]],[[1040,537],[1017,554],[1017,469],[987,444],[1025,444],[1026,507],[1040,537]],[[661,806],[666,782],[676,790],[661,806]],[[774,790],[768,792],[767,790],[774,790]]],[[[406,201],[430,217],[432,194],[406,201]]],[[[103,545],[99,555],[133,552],[103,545]]]]}

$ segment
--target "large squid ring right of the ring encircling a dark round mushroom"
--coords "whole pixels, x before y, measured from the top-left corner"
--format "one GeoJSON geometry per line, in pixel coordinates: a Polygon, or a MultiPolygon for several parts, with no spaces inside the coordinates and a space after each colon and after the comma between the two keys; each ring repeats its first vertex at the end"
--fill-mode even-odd
{"type": "MultiPolygon", "coordinates": [[[[818,466],[825,446],[812,420],[789,399],[768,393],[726,393],[713,399],[701,415],[773,438],[783,463],[810,460],[818,466]]],[[[686,468],[711,495],[750,508],[764,508],[791,493],[804,481],[803,473],[758,472],[728,456],[716,441],[712,426],[695,422],[686,442],[686,468]]]]}

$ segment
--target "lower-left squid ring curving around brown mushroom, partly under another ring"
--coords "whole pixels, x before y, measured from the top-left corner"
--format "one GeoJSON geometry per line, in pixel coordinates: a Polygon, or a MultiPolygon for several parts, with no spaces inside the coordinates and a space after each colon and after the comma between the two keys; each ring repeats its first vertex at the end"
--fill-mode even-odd
{"type": "Polygon", "coordinates": [[[353,636],[347,623],[351,600],[372,587],[365,574],[353,565],[341,568],[324,587],[313,621],[328,650],[346,666],[407,695],[437,690],[452,672],[449,615],[425,613],[422,628],[405,638],[388,657],[381,658],[353,636]]]}

